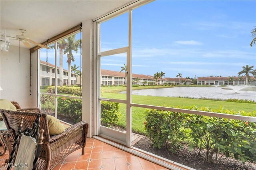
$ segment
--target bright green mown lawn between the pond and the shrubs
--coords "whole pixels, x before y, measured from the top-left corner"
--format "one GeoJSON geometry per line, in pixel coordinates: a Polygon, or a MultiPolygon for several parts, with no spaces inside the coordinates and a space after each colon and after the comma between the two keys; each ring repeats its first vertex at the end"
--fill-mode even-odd
{"type": "MultiPolygon", "coordinates": [[[[102,93],[102,97],[110,99],[126,99],[126,94],[118,93],[102,93]]],[[[202,99],[187,99],[179,97],[158,97],[158,96],[140,96],[132,95],[132,103],[146,104],[155,106],[166,107],[190,107],[196,105],[197,107],[210,107],[212,109],[218,109],[220,106],[224,109],[246,112],[253,112],[256,110],[256,104],[250,103],[235,103],[227,101],[212,101],[202,99]]],[[[132,107],[132,131],[140,134],[144,134],[144,111],[146,109],[140,107],[132,107]]],[[[126,127],[126,105],[120,104],[121,117],[118,121],[118,126],[126,127]]]]}

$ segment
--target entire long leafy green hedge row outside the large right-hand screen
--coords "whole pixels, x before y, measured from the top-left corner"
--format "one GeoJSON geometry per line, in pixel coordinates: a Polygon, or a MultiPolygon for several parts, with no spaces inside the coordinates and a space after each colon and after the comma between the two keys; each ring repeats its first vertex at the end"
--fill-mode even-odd
{"type": "MultiPolygon", "coordinates": [[[[252,116],[253,113],[235,112],[222,107],[185,107],[183,109],[223,114],[252,116]]],[[[218,162],[225,155],[242,162],[256,161],[256,123],[161,110],[147,110],[146,134],[154,147],[170,144],[171,152],[187,144],[188,149],[197,148],[209,163],[218,162]]]]}

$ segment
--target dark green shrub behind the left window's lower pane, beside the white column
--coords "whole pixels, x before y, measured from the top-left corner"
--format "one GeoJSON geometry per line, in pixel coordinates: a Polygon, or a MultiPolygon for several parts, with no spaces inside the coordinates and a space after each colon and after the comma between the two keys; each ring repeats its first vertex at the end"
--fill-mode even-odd
{"type": "Polygon", "coordinates": [[[58,115],[73,119],[75,123],[82,120],[82,99],[58,97],[58,115]]]}

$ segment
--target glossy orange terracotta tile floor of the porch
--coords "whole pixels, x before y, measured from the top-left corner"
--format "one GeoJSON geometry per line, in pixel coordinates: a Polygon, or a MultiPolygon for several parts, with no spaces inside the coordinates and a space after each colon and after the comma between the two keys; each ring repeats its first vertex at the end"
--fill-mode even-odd
{"type": "MultiPolygon", "coordinates": [[[[2,146],[1,149],[3,150],[2,146]]],[[[0,164],[8,158],[8,152],[1,156],[0,164]]],[[[0,168],[1,169],[1,168],[0,168]]],[[[58,164],[54,170],[166,170],[138,156],[110,146],[94,138],[86,141],[85,154],[76,150],[58,164]]]]}

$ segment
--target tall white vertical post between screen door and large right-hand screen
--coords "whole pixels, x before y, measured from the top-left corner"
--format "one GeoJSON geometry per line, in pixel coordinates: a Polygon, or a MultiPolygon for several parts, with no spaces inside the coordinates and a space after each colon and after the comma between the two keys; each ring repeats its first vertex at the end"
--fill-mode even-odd
{"type": "Polygon", "coordinates": [[[126,144],[131,147],[132,140],[132,10],[129,10],[129,32],[127,51],[127,84],[126,84],[126,144]]]}

